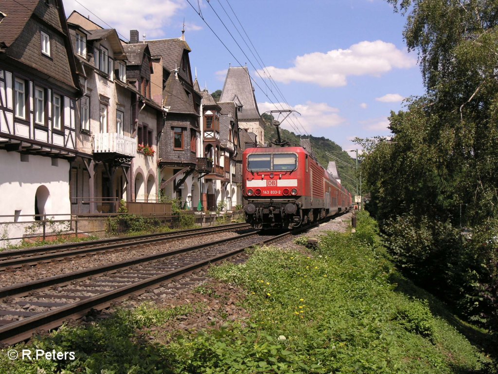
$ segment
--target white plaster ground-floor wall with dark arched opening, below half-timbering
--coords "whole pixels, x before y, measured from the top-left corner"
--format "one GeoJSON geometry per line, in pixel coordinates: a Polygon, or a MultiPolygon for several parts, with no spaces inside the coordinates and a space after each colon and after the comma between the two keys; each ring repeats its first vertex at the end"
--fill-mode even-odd
{"type": "MultiPolygon", "coordinates": [[[[69,200],[69,162],[57,159],[52,166],[49,157],[29,155],[29,162],[21,162],[17,152],[0,151],[0,215],[34,214],[36,189],[45,186],[50,192],[45,206],[47,215],[71,212],[69,200]]],[[[55,216],[55,219],[66,217],[55,216]]],[[[19,217],[19,221],[32,221],[33,217],[19,217]]],[[[0,221],[13,221],[13,217],[0,217],[0,221]]]]}

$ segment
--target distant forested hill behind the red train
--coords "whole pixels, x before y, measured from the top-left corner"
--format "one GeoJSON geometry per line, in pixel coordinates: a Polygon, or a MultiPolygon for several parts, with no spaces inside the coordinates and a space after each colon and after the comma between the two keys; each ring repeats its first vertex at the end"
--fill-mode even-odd
{"type": "MultiPolygon", "coordinates": [[[[282,128],[280,128],[280,136],[283,140],[288,141],[293,146],[299,145],[299,141],[301,139],[299,135],[296,135],[293,132],[287,131],[282,128]]],[[[276,135],[275,126],[265,121],[264,125],[265,143],[269,145],[271,142],[273,142],[276,139],[277,135],[276,135]]],[[[302,139],[308,139],[308,137],[303,137],[302,139]]],[[[339,145],[337,145],[330,139],[324,137],[317,138],[310,135],[309,140],[311,143],[311,148],[316,158],[318,159],[318,162],[325,169],[327,169],[329,161],[336,161],[331,157],[327,156],[327,152],[332,153],[338,159],[353,166],[352,168],[350,168],[344,165],[340,165],[341,163],[336,161],[336,165],[339,169],[339,176],[341,177],[341,183],[354,196],[356,194],[356,160],[354,158],[351,158],[347,152],[344,152],[339,145]]]]}

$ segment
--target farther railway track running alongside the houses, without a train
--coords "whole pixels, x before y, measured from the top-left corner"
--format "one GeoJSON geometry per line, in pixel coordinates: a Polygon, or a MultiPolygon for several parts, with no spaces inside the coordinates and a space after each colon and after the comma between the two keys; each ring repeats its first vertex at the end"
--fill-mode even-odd
{"type": "Polygon", "coordinates": [[[166,240],[181,239],[196,235],[239,230],[249,228],[247,223],[235,223],[223,226],[138,235],[128,238],[100,239],[78,243],[64,243],[48,247],[34,247],[0,252],[0,271],[21,266],[33,266],[55,259],[88,255],[91,253],[121,250],[144,244],[158,243],[166,240]]]}

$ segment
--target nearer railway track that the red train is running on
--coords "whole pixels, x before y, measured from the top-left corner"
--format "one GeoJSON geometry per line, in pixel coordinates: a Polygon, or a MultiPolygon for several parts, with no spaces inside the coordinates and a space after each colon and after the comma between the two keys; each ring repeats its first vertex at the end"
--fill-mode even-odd
{"type": "Polygon", "coordinates": [[[102,310],[130,295],[167,287],[168,280],[182,274],[294,233],[264,237],[249,232],[2,288],[0,341],[8,345],[27,340],[37,330],[54,329],[91,309],[102,310]]]}

